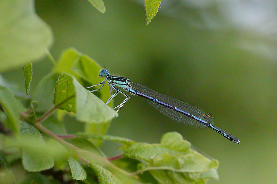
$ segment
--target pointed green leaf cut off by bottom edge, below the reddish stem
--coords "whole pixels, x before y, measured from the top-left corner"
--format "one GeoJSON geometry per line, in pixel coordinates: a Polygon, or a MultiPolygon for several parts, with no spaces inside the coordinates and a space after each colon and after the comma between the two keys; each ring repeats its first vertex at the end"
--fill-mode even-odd
{"type": "Polygon", "coordinates": [[[90,168],[97,175],[100,184],[123,184],[114,174],[95,163],[90,162],[90,168]]]}

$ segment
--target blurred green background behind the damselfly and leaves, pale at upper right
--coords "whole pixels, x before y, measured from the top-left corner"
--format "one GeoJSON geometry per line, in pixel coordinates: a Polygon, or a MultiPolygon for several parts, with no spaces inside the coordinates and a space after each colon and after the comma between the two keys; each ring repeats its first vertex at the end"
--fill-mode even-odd
{"type": "MultiPolygon", "coordinates": [[[[109,134],[158,143],[165,132],[177,131],[219,160],[220,179],[209,183],[276,183],[276,2],[162,0],[147,26],[142,0],[104,4],[102,14],[84,0],[35,1],[37,14],[53,29],[54,58],[74,47],[111,74],[204,109],[241,145],[211,129],[176,123],[136,96],[109,134]]],[[[34,63],[31,91],[52,66],[48,58],[34,63]]],[[[3,75],[24,91],[22,67],[3,75]]],[[[119,96],[115,104],[122,102],[119,96]]],[[[72,119],[67,125],[69,132],[81,127],[72,119]]],[[[103,150],[108,156],[120,152],[113,143],[103,150]]]]}

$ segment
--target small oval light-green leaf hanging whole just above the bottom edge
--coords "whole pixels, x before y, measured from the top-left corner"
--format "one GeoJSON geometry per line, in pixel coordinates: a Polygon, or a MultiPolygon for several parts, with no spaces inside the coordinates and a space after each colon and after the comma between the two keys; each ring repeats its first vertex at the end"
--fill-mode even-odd
{"type": "Polygon", "coordinates": [[[86,171],[84,168],[72,157],[68,158],[69,167],[71,170],[72,178],[75,180],[85,180],[86,171]]]}

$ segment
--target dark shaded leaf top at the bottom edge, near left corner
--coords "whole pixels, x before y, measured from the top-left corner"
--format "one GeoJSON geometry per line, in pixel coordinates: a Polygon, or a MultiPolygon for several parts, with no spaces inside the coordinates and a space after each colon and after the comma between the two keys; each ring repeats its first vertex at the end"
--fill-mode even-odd
{"type": "Polygon", "coordinates": [[[40,173],[31,173],[17,181],[15,184],[51,184],[50,181],[40,173]]]}

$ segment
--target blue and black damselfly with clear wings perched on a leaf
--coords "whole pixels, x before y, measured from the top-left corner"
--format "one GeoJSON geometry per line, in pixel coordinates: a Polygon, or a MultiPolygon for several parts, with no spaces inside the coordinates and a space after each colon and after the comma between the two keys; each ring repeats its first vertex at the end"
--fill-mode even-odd
{"type": "Polygon", "coordinates": [[[118,112],[118,110],[121,109],[124,103],[127,100],[129,100],[129,97],[121,90],[115,88],[115,86],[121,88],[122,90],[128,91],[132,95],[138,95],[143,98],[146,98],[148,102],[155,109],[157,109],[164,115],[170,117],[171,119],[177,122],[185,123],[188,126],[195,127],[195,128],[210,127],[211,129],[220,133],[227,139],[239,144],[239,140],[235,136],[232,136],[231,134],[221,130],[220,128],[215,127],[214,118],[211,116],[211,114],[207,113],[202,109],[199,109],[193,105],[187,104],[175,98],[171,98],[167,95],[160,94],[154,90],[151,90],[146,86],[131,82],[129,79],[125,77],[112,76],[109,74],[109,72],[106,69],[103,69],[99,73],[99,76],[105,77],[105,79],[100,84],[96,84],[88,88],[99,86],[99,85],[100,85],[100,88],[96,90],[92,90],[90,92],[101,90],[105,82],[107,81],[110,87],[110,98],[107,100],[106,104],[108,104],[111,101],[111,99],[113,99],[118,93],[121,93],[126,97],[121,104],[119,104],[114,108],[114,109],[118,108],[116,112],[118,112]],[[112,94],[111,89],[115,90],[114,94],[112,94]]]}

